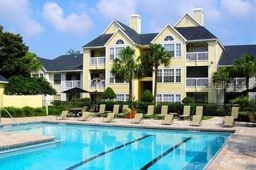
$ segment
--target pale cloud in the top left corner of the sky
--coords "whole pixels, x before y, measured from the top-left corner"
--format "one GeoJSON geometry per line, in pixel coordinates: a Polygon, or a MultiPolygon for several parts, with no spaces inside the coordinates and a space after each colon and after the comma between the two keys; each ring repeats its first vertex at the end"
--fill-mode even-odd
{"type": "Polygon", "coordinates": [[[29,0],[0,0],[0,18],[17,25],[26,37],[34,37],[43,31],[31,15],[29,0]]]}

